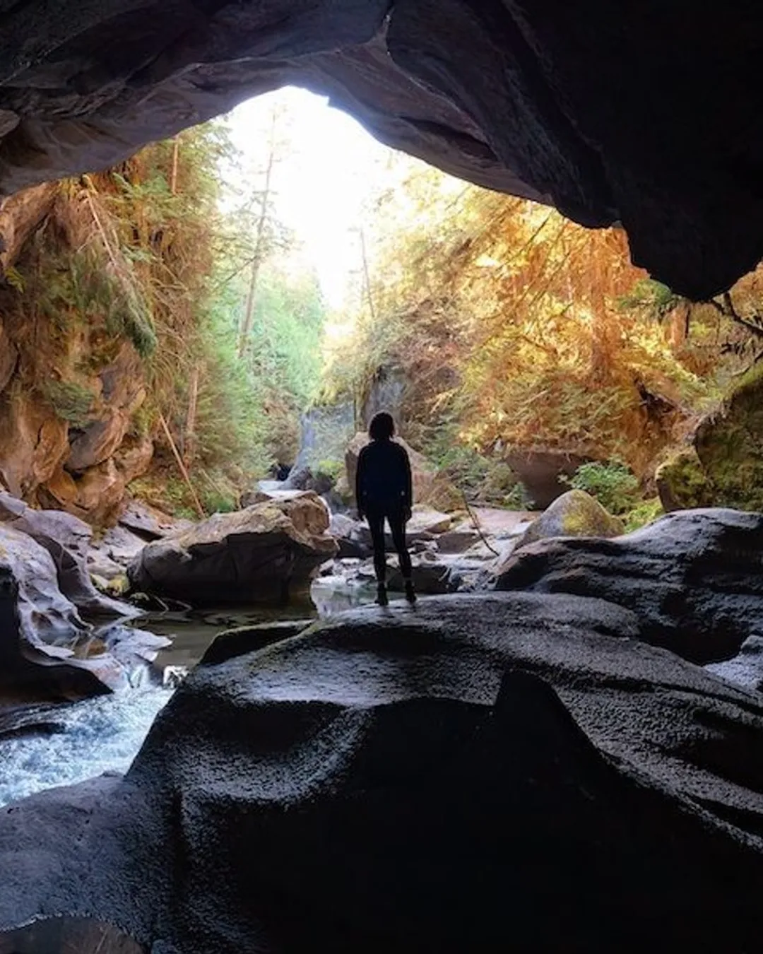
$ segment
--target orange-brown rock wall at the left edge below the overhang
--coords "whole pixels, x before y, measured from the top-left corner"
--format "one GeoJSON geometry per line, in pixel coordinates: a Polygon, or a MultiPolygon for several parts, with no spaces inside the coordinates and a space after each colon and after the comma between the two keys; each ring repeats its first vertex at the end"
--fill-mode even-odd
{"type": "Polygon", "coordinates": [[[140,427],[146,386],[133,343],[114,332],[108,309],[72,299],[66,255],[86,241],[91,216],[85,197],[54,184],[0,209],[0,259],[11,277],[0,286],[0,483],[30,504],[102,525],[154,446],[140,427]],[[55,269],[28,284],[38,262],[56,256],[60,286],[55,269]]]}

